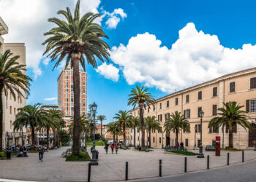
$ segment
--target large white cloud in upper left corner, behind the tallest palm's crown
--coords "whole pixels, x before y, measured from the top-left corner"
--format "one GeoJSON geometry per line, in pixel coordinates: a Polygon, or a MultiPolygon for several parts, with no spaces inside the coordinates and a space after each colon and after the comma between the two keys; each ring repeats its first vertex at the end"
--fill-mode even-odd
{"type": "MultiPolygon", "coordinates": [[[[43,63],[48,65],[48,60],[42,58],[45,50],[42,46],[42,42],[45,41],[43,33],[54,25],[48,22],[48,18],[62,17],[57,15],[57,12],[66,7],[73,12],[76,2],[76,0],[0,0],[0,16],[9,27],[9,33],[3,38],[5,42],[25,42],[26,64],[28,68],[33,69],[34,79],[42,74],[40,61],[43,60],[43,63]]],[[[81,14],[98,13],[100,3],[101,0],[81,0],[81,14]]],[[[121,17],[124,16],[121,10],[116,13],[121,17]]],[[[97,23],[101,21],[102,17],[96,20],[97,23]]]]}

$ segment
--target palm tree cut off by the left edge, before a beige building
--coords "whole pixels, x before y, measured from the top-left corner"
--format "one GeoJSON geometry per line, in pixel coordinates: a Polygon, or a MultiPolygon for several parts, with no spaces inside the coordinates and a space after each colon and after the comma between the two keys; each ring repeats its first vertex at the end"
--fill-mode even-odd
{"type": "Polygon", "coordinates": [[[20,65],[17,61],[20,56],[12,55],[10,50],[0,54],[0,149],[3,141],[3,96],[8,98],[8,91],[10,91],[12,98],[16,100],[17,95],[21,102],[21,98],[26,98],[26,95],[29,95],[31,81],[31,78],[24,74],[26,65],[20,65]]]}

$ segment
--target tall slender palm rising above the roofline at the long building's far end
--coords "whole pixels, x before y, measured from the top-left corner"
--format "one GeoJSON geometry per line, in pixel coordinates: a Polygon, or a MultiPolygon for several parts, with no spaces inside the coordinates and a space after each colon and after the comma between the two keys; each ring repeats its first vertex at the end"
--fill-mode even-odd
{"type": "Polygon", "coordinates": [[[143,107],[146,109],[146,106],[150,108],[150,105],[154,107],[156,100],[151,96],[151,93],[148,92],[148,89],[144,87],[136,86],[136,89],[132,89],[131,94],[129,94],[129,102],[128,105],[132,105],[134,108],[135,106],[139,106],[140,109],[140,126],[142,130],[142,148],[145,149],[145,124],[144,124],[144,117],[143,117],[143,107]]]}

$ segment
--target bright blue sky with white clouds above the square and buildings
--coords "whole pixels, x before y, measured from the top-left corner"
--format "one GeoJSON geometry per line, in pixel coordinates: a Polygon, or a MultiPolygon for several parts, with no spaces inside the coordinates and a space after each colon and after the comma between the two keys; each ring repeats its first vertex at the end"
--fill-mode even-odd
{"type": "MultiPolygon", "coordinates": [[[[0,4],[1,17],[4,17],[1,5],[7,6],[4,1],[0,4]]],[[[97,1],[99,3],[92,9],[105,15],[100,23],[110,37],[106,41],[112,48],[111,59],[102,71],[86,66],[87,89],[88,104],[97,103],[98,114],[107,116],[105,123],[112,122],[119,110],[132,108],[127,106],[127,99],[136,85],[149,87],[149,92],[160,98],[222,74],[256,66],[255,1],[97,1]],[[115,9],[122,9],[126,16],[111,14],[115,9]],[[111,16],[119,19],[112,28],[106,23],[111,16]]],[[[50,28],[47,18],[56,16],[56,9],[66,6],[61,2],[54,4],[51,14],[42,17],[46,19],[40,31],[47,31],[50,28]]],[[[8,17],[5,18],[10,29],[17,28],[8,17]]],[[[39,26],[37,22],[33,25],[39,26]]],[[[15,36],[8,35],[6,41],[18,39],[17,33],[10,33],[15,36]]],[[[44,37],[40,36],[37,41],[43,40],[44,37]]],[[[26,42],[26,39],[20,41],[26,42]]],[[[44,50],[41,45],[33,44],[34,40],[26,44],[27,57],[34,53],[31,51],[33,47],[41,52],[44,50]]],[[[28,58],[27,74],[34,81],[27,103],[57,103],[57,100],[45,98],[57,98],[57,78],[61,68],[52,71],[53,63],[48,63],[40,55],[34,58],[40,61],[35,63],[33,57],[28,58]]]]}

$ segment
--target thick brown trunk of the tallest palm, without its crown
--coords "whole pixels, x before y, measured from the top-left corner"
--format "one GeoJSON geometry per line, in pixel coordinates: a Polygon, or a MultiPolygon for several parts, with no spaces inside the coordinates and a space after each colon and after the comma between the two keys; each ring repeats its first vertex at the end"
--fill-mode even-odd
{"type": "Polygon", "coordinates": [[[79,61],[81,53],[72,53],[73,85],[74,85],[74,129],[73,129],[73,154],[78,154],[80,149],[80,74],[79,61]]]}

